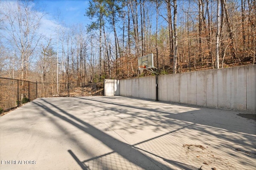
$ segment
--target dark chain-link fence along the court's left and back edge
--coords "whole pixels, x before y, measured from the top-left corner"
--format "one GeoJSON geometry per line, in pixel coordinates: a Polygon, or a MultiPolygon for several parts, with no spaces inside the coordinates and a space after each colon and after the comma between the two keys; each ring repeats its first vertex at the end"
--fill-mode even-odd
{"type": "Polygon", "coordinates": [[[38,97],[78,97],[104,95],[102,83],[43,83],[0,77],[0,113],[38,97]]]}

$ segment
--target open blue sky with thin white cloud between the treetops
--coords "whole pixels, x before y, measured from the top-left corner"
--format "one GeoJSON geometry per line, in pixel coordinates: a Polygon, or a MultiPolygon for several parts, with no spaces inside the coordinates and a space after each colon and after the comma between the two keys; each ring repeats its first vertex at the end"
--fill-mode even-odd
{"type": "MultiPolygon", "coordinates": [[[[8,14],[8,10],[16,10],[17,0],[0,0],[0,10],[3,14],[8,14]]],[[[57,42],[57,24],[59,23],[63,28],[70,28],[72,25],[82,24],[85,26],[90,24],[90,19],[86,14],[86,9],[88,8],[89,0],[33,0],[30,1],[33,10],[41,16],[42,11],[47,14],[41,19],[41,25],[39,28],[39,33],[46,38],[53,39],[53,43],[57,42]],[[58,21],[57,14],[60,11],[60,20],[58,21]],[[65,25],[62,24],[64,22],[65,25]]],[[[6,22],[8,25],[8,21],[6,22]]],[[[18,28],[18,26],[16,26],[18,28]]],[[[17,34],[18,35],[18,34],[17,34]]],[[[38,34],[39,35],[39,34],[38,34]]],[[[0,38],[3,43],[8,42],[10,39],[10,34],[4,29],[0,29],[0,38]]],[[[46,40],[48,40],[46,39],[46,40]]],[[[42,42],[44,42],[44,38],[42,42]]],[[[47,42],[46,42],[47,43],[47,42]]],[[[10,46],[12,48],[12,44],[10,46]]]]}

